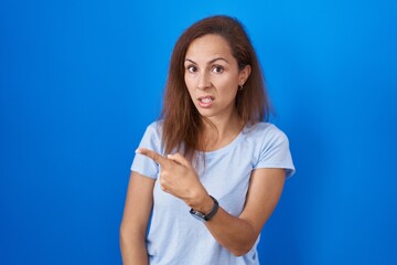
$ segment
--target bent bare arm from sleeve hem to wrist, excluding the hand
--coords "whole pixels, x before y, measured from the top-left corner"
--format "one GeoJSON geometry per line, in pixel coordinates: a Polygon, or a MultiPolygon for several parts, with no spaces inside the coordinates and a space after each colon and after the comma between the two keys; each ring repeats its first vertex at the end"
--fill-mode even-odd
{"type": "MultiPolygon", "coordinates": [[[[214,218],[205,223],[215,240],[236,256],[248,253],[278,203],[285,176],[283,169],[255,170],[243,213],[235,218],[221,205],[214,218]]],[[[202,212],[207,213],[214,202],[205,201],[201,204],[202,212]]]]}

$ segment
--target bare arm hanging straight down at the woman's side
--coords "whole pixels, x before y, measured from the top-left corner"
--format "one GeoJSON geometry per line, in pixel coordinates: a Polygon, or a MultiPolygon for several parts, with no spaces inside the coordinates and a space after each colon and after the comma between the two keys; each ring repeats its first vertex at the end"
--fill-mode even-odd
{"type": "Polygon", "coordinates": [[[122,264],[148,265],[146,232],[153,204],[154,180],[131,172],[120,225],[122,264]]]}

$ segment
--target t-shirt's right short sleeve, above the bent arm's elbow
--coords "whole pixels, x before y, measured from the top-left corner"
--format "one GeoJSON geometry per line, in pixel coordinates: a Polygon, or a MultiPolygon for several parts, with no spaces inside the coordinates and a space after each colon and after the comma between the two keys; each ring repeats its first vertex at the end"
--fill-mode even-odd
{"type": "Polygon", "coordinates": [[[286,134],[276,126],[271,126],[265,135],[259,158],[254,168],[283,168],[287,178],[294,173],[289,140],[286,134]]]}

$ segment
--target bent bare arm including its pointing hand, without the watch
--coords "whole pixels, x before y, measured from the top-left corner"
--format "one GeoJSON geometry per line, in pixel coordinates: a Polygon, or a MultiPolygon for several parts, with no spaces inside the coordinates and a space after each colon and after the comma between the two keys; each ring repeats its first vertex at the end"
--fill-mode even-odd
{"type": "MultiPolygon", "coordinates": [[[[163,191],[180,198],[196,211],[211,212],[214,201],[183,156],[176,153],[165,158],[147,149],[139,149],[138,152],[150,157],[161,166],[160,184],[163,191]]],[[[205,223],[214,239],[236,256],[246,254],[275,210],[285,179],[285,169],[254,170],[242,214],[237,218],[233,216],[219,205],[215,216],[205,223]]]]}

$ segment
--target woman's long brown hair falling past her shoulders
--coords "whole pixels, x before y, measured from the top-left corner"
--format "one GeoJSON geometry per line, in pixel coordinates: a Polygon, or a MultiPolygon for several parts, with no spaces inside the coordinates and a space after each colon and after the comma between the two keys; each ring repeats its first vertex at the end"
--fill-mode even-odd
{"type": "Polygon", "coordinates": [[[184,60],[192,41],[206,34],[221,35],[227,41],[239,70],[246,65],[251,67],[244,89],[239,91],[236,96],[237,114],[244,124],[254,125],[267,120],[269,116],[270,107],[261,68],[243,24],[237,19],[226,15],[203,19],[191,25],[181,35],[171,56],[161,113],[165,153],[175,149],[180,151],[183,146],[184,156],[192,159],[195,150],[204,148],[200,139],[203,120],[184,82],[184,60]]]}

